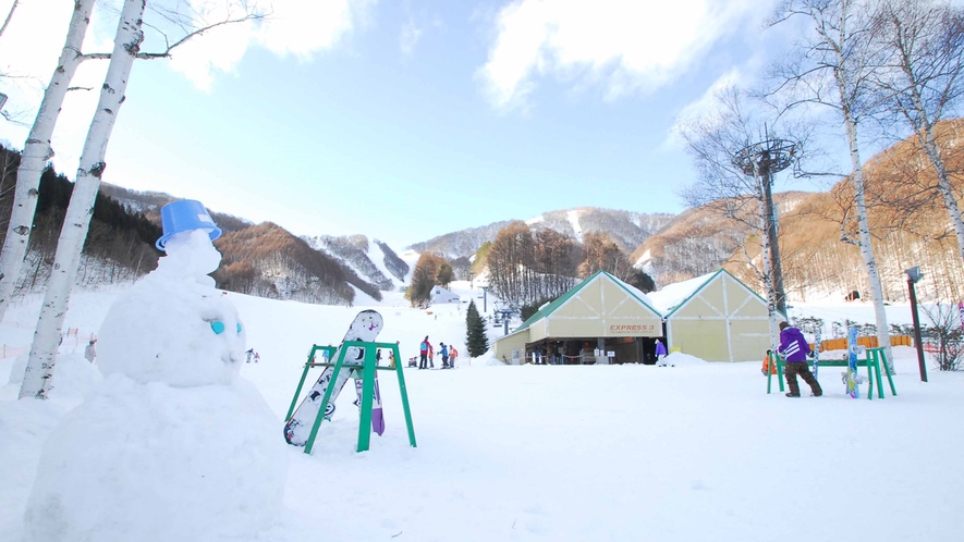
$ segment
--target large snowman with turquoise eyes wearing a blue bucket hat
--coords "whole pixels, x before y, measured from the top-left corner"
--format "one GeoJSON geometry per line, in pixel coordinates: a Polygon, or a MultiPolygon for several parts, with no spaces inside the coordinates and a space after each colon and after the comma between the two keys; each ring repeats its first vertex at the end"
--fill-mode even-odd
{"type": "Polygon", "coordinates": [[[24,518],[33,540],[231,539],[280,513],[279,421],[239,377],[244,324],[208,276],[221,231],[199,201],[161,218],[166,256],[100,329],[103,383],[44,445],[24,518]]]}

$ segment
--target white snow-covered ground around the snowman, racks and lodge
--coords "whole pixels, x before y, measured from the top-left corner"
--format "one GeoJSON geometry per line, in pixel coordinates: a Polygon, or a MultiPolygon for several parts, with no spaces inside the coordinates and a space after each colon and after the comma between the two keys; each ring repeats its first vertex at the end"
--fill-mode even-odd
{"type": "MultiPolygon", "coordinates": [[[[66,327],[82,338],[64,342],[62,359],[75,362],[63,364],[50,401],[19,402],[17,385],[0,387],[0,540],[23,539],[40,447],[99,385],[70,354],[82,353],[84,335],[99,329],[117,295],[72,299],[66,327]]],[[[367,307],[229,297],[261,355],[242,377],[278,417],[281,440],[312,345],[340,341],[367,307]]],[[[367,453],[354,452],[357,410],[353,394],[343,393],[314,454],[288,449],[284,513],[274,527],[232,540],[961,540],[954,518],[964,486],[964,374],[931,368],[922,383],[908,347],[894,349],[896,397],[888,391],[883,401],[851,399],[840,369],[825,368],[823,397],[790,399],[766,394],[759,360],[706,364],[674,355],[676,367],[669,368],[469,364],[464,307],[428,313],[398,295],[374,307],[385,317],[379,341],[400,341],[403,358],[417,354],[425,335],[462,353],[453,371],[405,371],[418,446],[408,446],[391,373],[380,378],[387,431],[373,435],[367,453]]],[[[873,318],[863,304],[795,310],[873,318]]],[[[896,323],[910,321],[905,306],[890,310],[896,323]]],[[[12,308],[0,343],[10,352],[27,346],[38,311],[37,298],[12,308]]],[[[0,384],[13,364],[0,359],[0,384]]]]}

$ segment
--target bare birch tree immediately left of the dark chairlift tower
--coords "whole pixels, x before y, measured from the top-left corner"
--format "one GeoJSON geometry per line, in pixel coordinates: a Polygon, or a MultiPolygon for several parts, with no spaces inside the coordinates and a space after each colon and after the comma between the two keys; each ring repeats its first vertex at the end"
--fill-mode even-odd
{"type": "Polygon", "coordinates": [[[779,345],[777,288],[773,282],[770,244],[767,229],[769,206],[765,201],[762,172],[753,161],[753,173],[747,174],[744,163],[737,160],[741,149],[747,148],[759,137],[762,122],[752,111],[751,99],[736,87],[727,87],[715,96],[715,110],[693,119],[681,128],[693,157],[699,178],[685,187],[681,196],[691,207],[704,207],[727,218],[739,226],[739,239],[746,261],[767,295],[767,315],[770,329],[770,347],[779,345]],[[751,232],[746,235],[746,232],[751,232]],[[759,238],[760,263],[748,249],[746,241],[759,238]]]}

